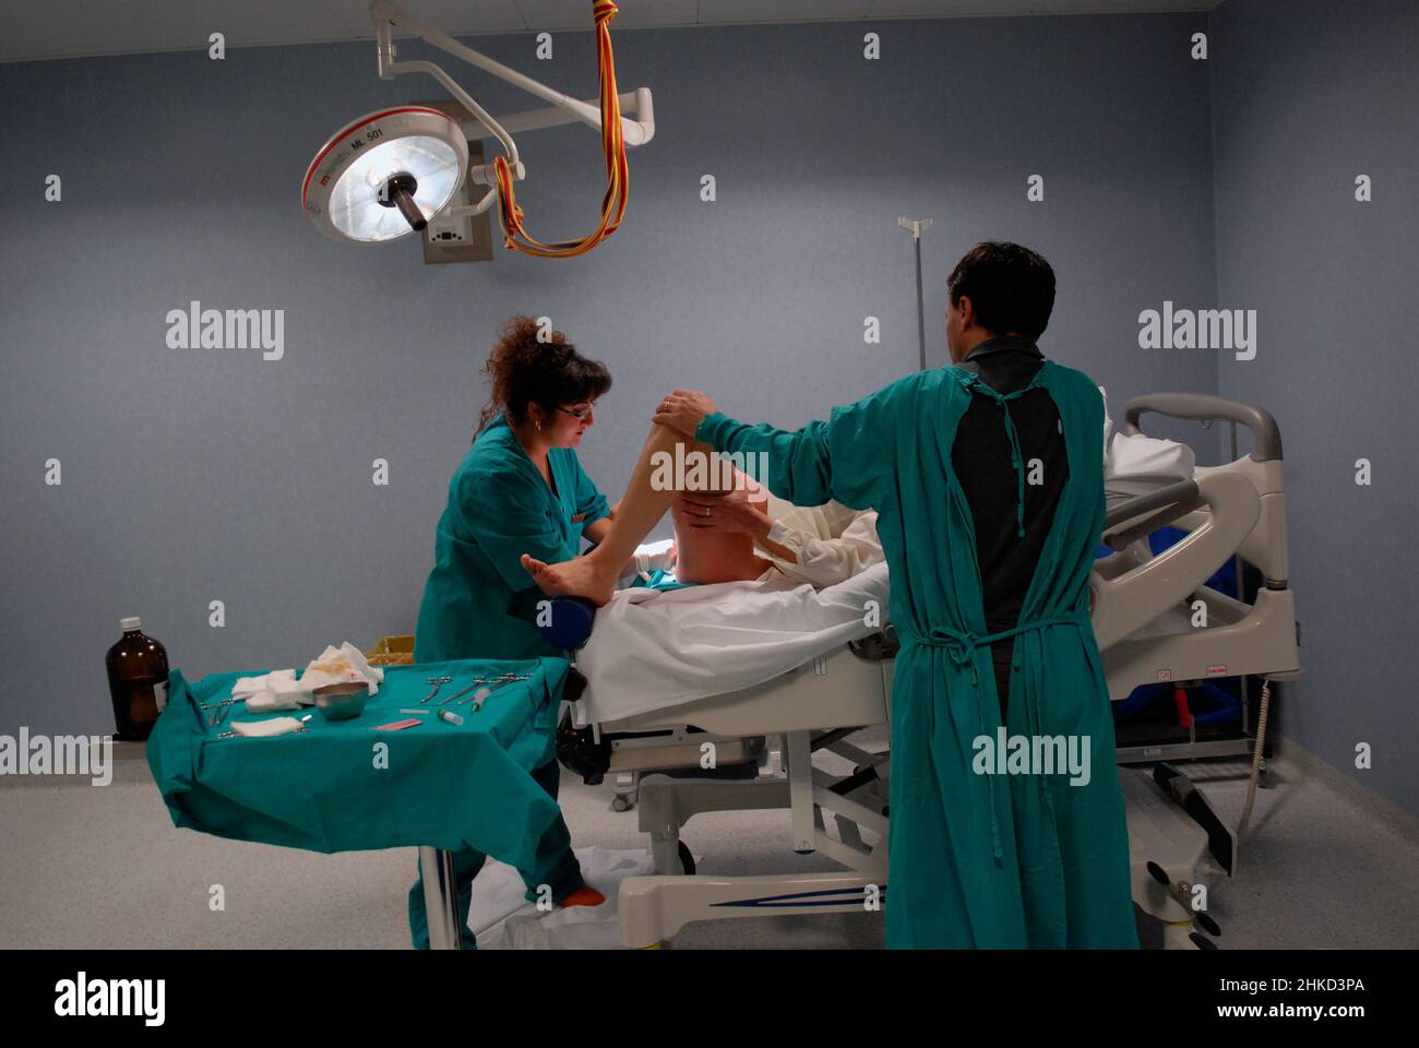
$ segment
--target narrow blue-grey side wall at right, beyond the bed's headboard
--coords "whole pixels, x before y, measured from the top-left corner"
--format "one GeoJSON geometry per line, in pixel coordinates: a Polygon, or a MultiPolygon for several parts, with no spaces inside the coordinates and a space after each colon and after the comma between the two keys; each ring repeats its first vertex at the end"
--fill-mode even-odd
{"type": "Polygon", "coordinates": [[[1212,48],[1219,300],[1260,331],[1254,361],[1220,355],[1219,393],[1266,405],[1286,447],[1305,677],[1283,733],[1419,811],[1419,470],[1398,439],[1419,402],[1419,4],[1229,0],[1212,48]]]}

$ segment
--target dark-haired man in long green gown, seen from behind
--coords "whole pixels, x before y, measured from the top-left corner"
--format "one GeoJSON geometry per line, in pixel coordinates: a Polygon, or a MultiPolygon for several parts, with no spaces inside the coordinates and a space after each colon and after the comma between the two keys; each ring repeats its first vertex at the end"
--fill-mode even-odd
{"type": "Polygon", "coordinates": [[[766,452],[768,487],[790,503],[878,513],[902,642],[887,944],[1137,949],[1090,623],[1103,396],[1034,345],[1054,304],[1040,256],[979,244],[948,293],[956,366],[908,375],[797,432],[736,422],[690,391],[666,398],[656,422],[719,452],[766,452]],[[1002,726],[1083,747],[1093,774],[998,774],[975,757],[1002,726]]]}

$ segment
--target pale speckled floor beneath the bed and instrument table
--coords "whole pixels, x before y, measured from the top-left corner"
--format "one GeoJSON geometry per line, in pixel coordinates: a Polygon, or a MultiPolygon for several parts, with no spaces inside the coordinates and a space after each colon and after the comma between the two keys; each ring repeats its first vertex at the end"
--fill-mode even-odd
{"type": "MultiPolygon", "coordinates": [[[[1244,767],[1182,767],[1235,825],[1244,767]]],[[[1419,821],[1304,754],[1273,764],[1271,781],[1271,790],[1259,791],[1237,876],[1212,889],[1220,944],[1419,947],[1419,821]]],[[[578,848],[597,846],[603,859],[644,852],[636,812],[613,812],[609,799],[609,787],[586,787],[563,773],[562,807],[578,848]]],[[[413,849],[316,855],[175,829],[140,751],[119,761],[105,788],[87,780],[0,778],[0,947],[409,944],[413,849]],[[224,889],[221,912],[209,905],[213,885],[224,889]]],[[[685,841],[704,873],[833,869],[788,849],[788,812],[700,815],[685,841]]],[[[481,889],[485,900],[495,897],[494,888],[481,889]]],[[[587,934],[612,929],[606,922],[587,934]]],[[[863,913],[704,922],[685,927],[671,947],[881,944],[881,916],[863,913]]]]}

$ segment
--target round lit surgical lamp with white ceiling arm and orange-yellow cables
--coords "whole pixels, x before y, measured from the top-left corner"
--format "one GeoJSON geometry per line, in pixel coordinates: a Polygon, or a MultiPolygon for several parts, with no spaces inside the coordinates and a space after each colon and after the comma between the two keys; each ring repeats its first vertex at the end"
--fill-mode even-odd
{"type": "Polygon", "coordinates": [[[656,133],[656,124],[650,88],[624,95],[616,92],[609,31],[610,20],[616,17],[616,4],[612,0],[595,0],[592,10],[602,88],[597,105],[552,91],[464,47],[453,37],[420,24],[389,0],[373,0],[369,13],[375,21],[380,80],[393,80],[400,72],[427,72],[473,114],[473,119],[460,124],[438,109],[406,105],[368,114],[339,131],[311,160],[301,185],[301,204],[315,227],[336,240],[383,243],[423,230],[429,219],[446,207],[450,217],[461,217],[482,214],[497,203],[505,246],[526,254],[543,258],[585,254],[614,233],[626,212],[629,190],[626,146],[648,142],[656,133]],[[552,108],[494,119],[438,65],[424,61],[396,62],[393,26],[529,91],[551,102],[552,108]],[[623,107],[640,119],[622,116],[623,107]],[[522,229],[522,209],[517,204],[514,182],[524,179],[526,170],[518,159],[511,132],[575,121],[602,132],[607,179],[602,220],[596,230],[579,240],[543,244],[522,229]],[[470,138],[497,138],[505,155],[470,170],[470,138]],[[488,186],[488,192],[475,204],[450,207],[464,178],[474,185],[488,186]]]}

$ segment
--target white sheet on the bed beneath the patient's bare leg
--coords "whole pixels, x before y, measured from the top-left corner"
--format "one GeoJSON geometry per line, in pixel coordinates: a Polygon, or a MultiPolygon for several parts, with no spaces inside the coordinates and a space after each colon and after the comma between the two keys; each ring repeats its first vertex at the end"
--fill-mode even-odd
{"type": "Polygon", "coordinates": [[[576,659],[579,724],[738,692],[881,629],[887,565],[822,591],[786,578],[654,592],[627,589],[596,613],[576,659]]]}

